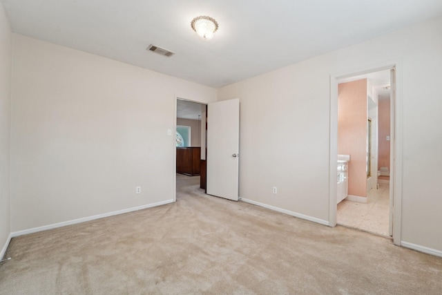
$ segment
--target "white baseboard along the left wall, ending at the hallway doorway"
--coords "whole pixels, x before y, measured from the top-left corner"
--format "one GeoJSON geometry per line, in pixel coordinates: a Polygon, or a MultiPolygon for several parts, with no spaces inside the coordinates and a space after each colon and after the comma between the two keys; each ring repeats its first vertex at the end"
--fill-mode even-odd
{"type": "Polygon", "coordinates": [[[138,210],[147,209],[147,208],[151,208],[151,207],[157,207],[160,205],[169,204],[171,202],[174,202],[174,201],[173,200],[166,200],[166,201],[162,201],[162,202],[156,202],[153,204],[142,205],[139,207],[132,207],[132,208],[128,208],[128,209],[103,213],[103,214],[99,214],[99,215],[95,215],[95,216],[89,216],[89,217],[85,217],[85,218],[79,218],[79,219],[75,219],[75,220],[59,222],[59,223],[55,223],[53,225],[44,225],[43,227],[34,227],[32,229],[25,229],[23,231],[14,231],[10,234],[10,238],[15,238],[17,236],[23,236],[26,234],[33,234],[33,233],[37,233],[39,231],[46,231],[48,229],[56,229],[57,227],[66,227],[67,225],[75,225],[75,224],[81,223],[81,222],[86,222],[86,221],[95,220],[95,219],[99,219],[99,218],[105,218],[105,217],[109,217],[109,216],[115,216],[115,215],[128,213],[128,212],[132,212],[132,211],[138,211],[138,210]]]}

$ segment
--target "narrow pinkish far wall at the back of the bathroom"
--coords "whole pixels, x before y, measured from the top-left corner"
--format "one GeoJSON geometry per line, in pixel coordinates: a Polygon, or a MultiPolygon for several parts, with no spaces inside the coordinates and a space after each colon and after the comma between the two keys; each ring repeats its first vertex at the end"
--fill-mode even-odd
{"type": "Polygon", "coordinates": [[[387,167],[390,171],[390,99],[379,99],[379,147],[378,169],[387,167]]]}

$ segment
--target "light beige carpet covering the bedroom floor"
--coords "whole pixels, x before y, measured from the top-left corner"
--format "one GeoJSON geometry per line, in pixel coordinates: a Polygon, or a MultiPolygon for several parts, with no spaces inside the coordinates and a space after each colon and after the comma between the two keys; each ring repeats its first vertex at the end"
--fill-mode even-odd
{"type": "Polygon", "coordinates": [[[0,294],[441,294],[442,258],[205,196],[13,238],[0,294]]]}

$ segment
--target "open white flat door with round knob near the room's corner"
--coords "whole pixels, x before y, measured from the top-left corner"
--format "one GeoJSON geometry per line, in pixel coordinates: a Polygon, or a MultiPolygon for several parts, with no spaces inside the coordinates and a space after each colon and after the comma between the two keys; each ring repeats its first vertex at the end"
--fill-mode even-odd
{"type": "Polygon", "coordinates": [[[207,178],[209,195],[238,200],[240,99],[207,108],[207,178]]]}

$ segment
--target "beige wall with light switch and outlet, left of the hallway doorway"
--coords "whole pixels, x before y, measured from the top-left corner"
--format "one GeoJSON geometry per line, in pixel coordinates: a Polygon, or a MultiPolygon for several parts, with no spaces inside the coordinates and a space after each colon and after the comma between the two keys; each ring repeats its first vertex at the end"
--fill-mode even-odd
{"type": "Polygon", "coordinates": [[[175,97],[216,90],[13,39],[12,231],[173,200],[175,97]]]}

